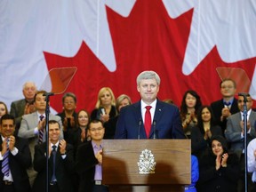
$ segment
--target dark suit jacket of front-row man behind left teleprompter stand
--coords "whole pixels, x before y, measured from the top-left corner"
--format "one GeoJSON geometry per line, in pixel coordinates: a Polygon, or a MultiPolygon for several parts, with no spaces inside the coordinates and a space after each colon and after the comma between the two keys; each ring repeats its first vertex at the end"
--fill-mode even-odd
{"type": "MultiPolygon", "coordinates": [[[[46,179],[46,142],[35,146],[35,157],[34,157],[34,169],[38,174],[32,187],[32,191],[44,192],[45,191],[45,179],[46,179]]],[[[63,159],[60,155],[60,148],[57,149],[56,153],[56,169],[55,175],[58,183],[60,192],[72,192],[72,173],[74,172],[74,154],[73,147],[67,143],[66,147],[66,158],[63,159]]],[[[49,158],[49,183],[52,179],[52,156],[49,158]]]]}

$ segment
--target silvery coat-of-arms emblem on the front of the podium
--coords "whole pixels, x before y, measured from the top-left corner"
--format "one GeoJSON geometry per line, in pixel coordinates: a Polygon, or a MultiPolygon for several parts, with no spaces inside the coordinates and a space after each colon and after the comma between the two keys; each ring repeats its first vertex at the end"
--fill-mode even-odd
{"type": "Polygon", "coordinates": [[[156,162],[151,150],[144,149],[140,154],[140,160],[137,164],[140,174],[155,173],[156,162]]]}

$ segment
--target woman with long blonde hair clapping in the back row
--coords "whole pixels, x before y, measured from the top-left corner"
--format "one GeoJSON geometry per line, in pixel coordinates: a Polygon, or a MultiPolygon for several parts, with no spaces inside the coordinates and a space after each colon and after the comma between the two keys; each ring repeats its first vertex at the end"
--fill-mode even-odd
{"type": "Polygon", "coordinates": [[[98,119],[104,123],[116,116],[116,99],[109,87],[102,87],[98,94],[95,109],[92,110],[91,119],[98,119]]]}

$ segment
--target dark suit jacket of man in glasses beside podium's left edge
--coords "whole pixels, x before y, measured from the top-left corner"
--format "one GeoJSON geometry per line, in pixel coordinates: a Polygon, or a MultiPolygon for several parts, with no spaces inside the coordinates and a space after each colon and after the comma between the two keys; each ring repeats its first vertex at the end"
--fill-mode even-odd
{"type": "Polygon", "coordinates": [[[92,141],[80,145],[76,153],[76,172],[80,176],[79,192],[92,191],[96,164],[99,162],[94,156],[92,141]]]}

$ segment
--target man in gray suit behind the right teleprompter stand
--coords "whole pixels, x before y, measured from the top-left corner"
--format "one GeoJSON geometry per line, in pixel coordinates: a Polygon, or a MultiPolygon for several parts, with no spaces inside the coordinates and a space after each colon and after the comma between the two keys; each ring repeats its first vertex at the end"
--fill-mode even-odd
{"type": "MultiPolygon", "coordinates": [[[[246,97],[247,102],[247,144],[256,137],[254,124],[256,122],[256,112],[252,110],[252,97],[250,94],[246,97]]],[[[230,150],[235,152],[240,158],[241,177],[238,180],[238,191],[244,191],[244,96],[238,96],[238,108],[240,112],[229,116],[227,129],[225,132],[226,139],[230,144],[230,150]]],[[[248,191],[252,188],[252,174],[248,174],[248,191]]]]}

